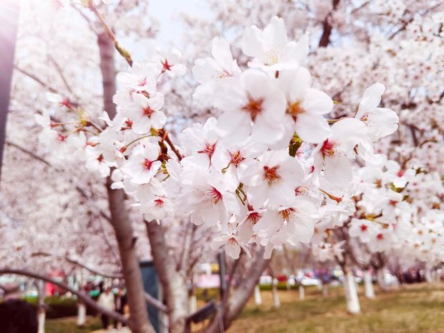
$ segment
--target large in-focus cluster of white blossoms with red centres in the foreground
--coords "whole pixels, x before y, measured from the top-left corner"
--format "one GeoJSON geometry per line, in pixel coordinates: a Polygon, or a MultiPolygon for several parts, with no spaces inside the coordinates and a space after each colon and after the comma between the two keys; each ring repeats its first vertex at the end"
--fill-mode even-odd
{"type": "Polygon", "coordinates": [[[252,243],[265,247],[264,257],[283,244],[309,243],[315,226],[340,225],[355,214],[355,179],[370,173],[354,172],[355,160],[388,167],[373,144],[398,128],[398,116],[378,108],[385,87],[375,83],[355,117],[328,119],[334,101],[311,87],[303,66],[309,39],[289,41],[278,17],[263,30],[246,28],[241,50],[250,57],[246,68],[221,37],[212,40],[211,57],[196,60],[193,99],[218,117],[185,128],[178,144],[165,129],[165,96],[157,87],[185,74],[177,50],[117,76],[117,113],[103,112],[104,126],[51,94],[78,119],[57,123],[44,113],[40,139],[60,157],[83,158],[88,169],[110,176],[144,219],[189,216],[217,230],[214,248],[225,246],[233,258],[241,248],[249,255],[252,243]]]}

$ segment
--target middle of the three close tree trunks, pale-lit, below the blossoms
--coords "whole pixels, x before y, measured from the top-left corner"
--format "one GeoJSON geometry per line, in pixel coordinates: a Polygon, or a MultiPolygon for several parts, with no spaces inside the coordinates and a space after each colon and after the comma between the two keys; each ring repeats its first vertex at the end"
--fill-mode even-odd
{"type": "Polygon", "coordinates": [[[188,289],[185,275],[176,270],[176,262],[168,253],[162,225],[156,221],[145,221],[155,270],[162,284],[169,309],[169,332],[185,332],[188,316],[188,289]]]}

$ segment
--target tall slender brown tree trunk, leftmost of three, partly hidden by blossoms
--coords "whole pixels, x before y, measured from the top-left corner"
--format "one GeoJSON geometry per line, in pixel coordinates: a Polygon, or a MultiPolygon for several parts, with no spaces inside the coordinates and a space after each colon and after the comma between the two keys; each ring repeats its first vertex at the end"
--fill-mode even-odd
{"type": "MultiPolygon", "coordinates": [[[[112,97],[116,92],[116,68],[114,65],[114,45],[110,38],[101,33],[98,35],[97,44],[100,51],[100,69],[103,78],[103,108],[113,119],[116,114],[116,105],[112,103],[112,97]]],[[[144,285],[142,273],[139,269],[139,259],[135,253],[135,237],[133,225],[125,205],[125,192],[123,189],[111,189],[112,180],[107,178],[108,203],[110,205],[111,224],[116,232],[117,243],[123,268],[123,278],[128,295],[128,307],[130,308],[129,326],[133,333],[154,332],[148,321],[148,312],[144,298],[144,285]]]]}

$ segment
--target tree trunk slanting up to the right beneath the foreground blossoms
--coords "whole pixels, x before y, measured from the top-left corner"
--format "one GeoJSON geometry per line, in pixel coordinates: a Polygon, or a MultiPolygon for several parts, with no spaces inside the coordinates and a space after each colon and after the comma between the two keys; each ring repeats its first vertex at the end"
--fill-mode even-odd
{"type": "MultiPolygon", "coordinates": [[[[264,259],[264,249],[258,250],[255,258],[250,261],[248,266],[248,279],[237,287],[237,289],[228,296],[228,301],[223,305],[223,329],[227,330],[234,319],[239,316],[242,309],[244,309],[246,302],[253,294],[259,278],[269,264],[268,259],[264,259]]],[[[219,321],[216,316],[207,328],[208,333],[222,333],[219,321]]]]}

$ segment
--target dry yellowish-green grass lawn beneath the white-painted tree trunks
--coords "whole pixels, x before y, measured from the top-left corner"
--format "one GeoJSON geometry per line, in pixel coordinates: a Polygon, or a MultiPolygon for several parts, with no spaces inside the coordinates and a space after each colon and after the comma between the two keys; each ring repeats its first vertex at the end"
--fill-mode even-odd
{"type": "Polygon", "coordinates": [[[331,289],[325,299],[316,289],[306,294],[305,300],[299,300],[298,291],[280,291],[282,305],[273,309],[271,292],[263,291],[264,304],[256,307],[250,300],[228,332],[444,332],[444,285],[416,284],[387,293],[377,291],[375,300],[366,300],[360,293],[362,313],[355,316],[345,312],[342,288],[331,289]]]}

